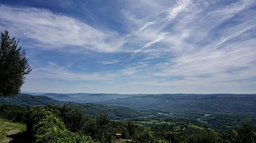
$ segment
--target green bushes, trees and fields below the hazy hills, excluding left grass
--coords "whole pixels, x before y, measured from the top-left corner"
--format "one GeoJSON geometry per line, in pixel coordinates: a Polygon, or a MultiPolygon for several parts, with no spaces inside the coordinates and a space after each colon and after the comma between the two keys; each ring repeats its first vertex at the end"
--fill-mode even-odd
{"type": "MultiPolygon", "coordinates": [[[[84,115],[80,106],[1,105],[0,118],[26,124],[29,142],[255,142],[243,125],[225,132],[208,123],[164,115],[114,122],[104,112],[84,115]],[[13,111],[13,112],[12,112],[13,111]],[[120,137],[116,137],[120,133],[120,137]],[[119,139],[117,139],[119,138],[119,139]]],[[[3,135],[2,135],[3,136],[3,135]]]]}

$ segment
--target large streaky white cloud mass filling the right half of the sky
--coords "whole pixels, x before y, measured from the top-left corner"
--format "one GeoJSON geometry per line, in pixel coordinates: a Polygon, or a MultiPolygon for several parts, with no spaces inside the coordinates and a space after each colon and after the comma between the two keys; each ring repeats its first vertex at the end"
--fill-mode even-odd
{"type": "MultiPolygon", "coordinates": [[[[162,20],[172,21],[172,27],[166,28],[169,23],[161,23],[160,20],[154,25],[143,28],[143,31],[137,35],[143,42],[141,42],[142,48],[137,48],[134,53],[143,53],[146,56],[144,60],[156,60],[161,56],[165,60],[157,64],[153,64],[153,61],[143,69],[134,66],[133,71],[136,72],[133,76],[139,75],[144,70],[151,76],[140,75],[140,79],[144,81],[134,81],[131,84],[202,86],[205,89],[212,87],[216,91],[225,91],[225,88],[231,89],[231,87],[239,87],[238,85],[245,88],[248,82],[239,83],[238,80],[256,77],[256,68],[254,68],[256,47],[253,44],[256,13],[244,12],[252,7],[253,2],[238,1],[209,9],[218,5],[217,3],[219,2],[205,4],[199,1],[184,1],[184,3],[178,1],[176,5],[164,11],[166,17],[161,12],[146,16],[141,21],[137,19],[142,22],[153,21],[154,16],[161,17],[162,20]],[[240,12],[243,12],[243,15],[236,18],[235,16],[240,12]],[[179,14],[184,17],[177,17],[179,14]],[[237,23],[234,22],[226,27],[220,26],[230,19],[237,23]],[[162,32],[168,34],[159,39],[162,32]],[[147,40],[149,42],[145,42],[147,40]],[[157,42],[160,46],[154,46],[157,42]],[[184,79],[167,80],[173,79],[173,76],[181,76],[184,79]],[[160,80],[159,77],[166,80],[160,80]],[[225,86],[223,82],[229,83],[225,86]],[[217,90],[218,88],[221,90],[217,90]]],[[[147,22],[144,25],[146,24],[147,22]]],[[[137,55],[141,56],[141,54],[137,55]]]]}

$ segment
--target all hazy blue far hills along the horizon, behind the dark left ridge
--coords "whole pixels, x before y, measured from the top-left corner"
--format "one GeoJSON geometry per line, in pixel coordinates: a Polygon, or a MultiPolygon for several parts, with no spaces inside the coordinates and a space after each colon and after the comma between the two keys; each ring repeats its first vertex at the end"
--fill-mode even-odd
{"type": "Polygon", "coordinates": [[[232,113],[256,116],[256,94],[42,94],[55,100],[96,103],[159,112],[168,116],[198,119],[206,115],[232,113]]]}

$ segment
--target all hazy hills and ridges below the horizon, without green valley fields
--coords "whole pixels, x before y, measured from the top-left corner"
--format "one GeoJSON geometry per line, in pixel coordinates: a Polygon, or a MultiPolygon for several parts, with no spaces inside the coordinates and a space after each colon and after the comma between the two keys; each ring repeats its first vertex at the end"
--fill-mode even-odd
{"type": "MultiPolygon", "coordinates": [[[[63,106],[79,105],[86,115],[96,115],[103,111],[112,120],[135,119],[140,117],[158,119],[184,118],[194,121],[207,121],[212,125],[250,124],[256,129],[255,94],[20,94],[13,98],[2,98],[0,104],[21,106],[63,106]],[[76,102],[79,101],[79,102],[76,102]],[[221,116],[223,115],[223,116],[221,116]],[[225,121],[216,122],[215,118],[225,121]],[[249,119],[250,122],[246,120],[249,119]],[[231,120],[231,121],[230,121],[231,120]]],[[[149,119],[147,119],[149,120],[149,119]]],[[[232,125],[234,126],[234,125],[232,125]]],[[[216,127],[218,128],[218,127],[216,127]]]]}

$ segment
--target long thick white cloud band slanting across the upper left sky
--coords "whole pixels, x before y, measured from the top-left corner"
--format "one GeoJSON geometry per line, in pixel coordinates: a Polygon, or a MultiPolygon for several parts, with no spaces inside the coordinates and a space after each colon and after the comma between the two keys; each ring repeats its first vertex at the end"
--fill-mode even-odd
{"type": "Polygon", "coordinates": [[[123,44],[122,38],[115,32],[97,30],[75,18],[46,9],[2,5],[0,13],[0,23],[5,28],[21,34],[23,38],[48,45],[42,48],[79,46],[97,52],[116,52],[123,44]]]}

